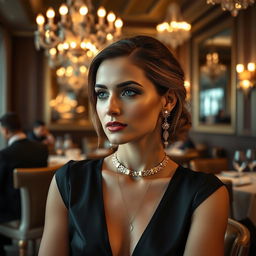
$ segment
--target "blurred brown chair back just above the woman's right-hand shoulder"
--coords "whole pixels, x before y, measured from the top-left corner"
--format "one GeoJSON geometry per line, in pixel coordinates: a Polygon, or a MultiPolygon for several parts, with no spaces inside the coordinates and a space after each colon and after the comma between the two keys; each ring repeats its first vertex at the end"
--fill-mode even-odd
{"type": "Polygon", "coordinates": [[[190,167],[194,171],[207,173],[220,173],[228,169],[227,158],[197,158],[190,161],[190,167]]]}

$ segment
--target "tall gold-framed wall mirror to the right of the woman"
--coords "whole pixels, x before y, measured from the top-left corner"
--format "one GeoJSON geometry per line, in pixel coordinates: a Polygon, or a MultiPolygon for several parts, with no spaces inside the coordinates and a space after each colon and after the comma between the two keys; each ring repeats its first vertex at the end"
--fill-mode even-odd
{"type": "MultiPolygon", "coordinates": [[[[220,23],[218,23],[220,24],[220,23]]],[[[207,29],[193,42],[193,130],[235,131],[232,23],[207,29]]]]}

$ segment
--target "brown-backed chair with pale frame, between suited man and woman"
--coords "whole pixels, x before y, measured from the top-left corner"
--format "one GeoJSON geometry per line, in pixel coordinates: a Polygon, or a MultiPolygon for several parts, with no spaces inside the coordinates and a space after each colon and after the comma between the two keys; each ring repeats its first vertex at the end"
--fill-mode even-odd
{"type": "Polygon", "coordinates": [[[52,177],[62,165],[45,168],[17,168],[13,173],[14,187],[20,189],[21,219],[2,223],[0,234],[19,241],[19,255],[27,255],[28,241],[41,238],[46,198],[52,177]]]}

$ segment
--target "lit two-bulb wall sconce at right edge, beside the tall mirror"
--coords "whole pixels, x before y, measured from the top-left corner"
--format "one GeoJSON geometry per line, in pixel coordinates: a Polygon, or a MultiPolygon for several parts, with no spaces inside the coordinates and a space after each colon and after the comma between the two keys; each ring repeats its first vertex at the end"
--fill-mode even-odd
{"type": "Polygon", "coordinates": [[[246,93],[255,87],[256,82],[256,63],[250,62],[245,69],[243,64],[236,65],[236,72],[239,79],[238,88],[246,93]]]}

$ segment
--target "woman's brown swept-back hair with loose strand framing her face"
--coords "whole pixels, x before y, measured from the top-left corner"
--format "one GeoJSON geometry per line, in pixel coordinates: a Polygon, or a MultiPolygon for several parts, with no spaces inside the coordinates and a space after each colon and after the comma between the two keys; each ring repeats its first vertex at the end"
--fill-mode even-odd
{"type": "Polygon", "coordinates": [[[145,76],[154,84],[159,95],[164,95],[170,90],[176,96],[177,103],[168,121],[170,124],[169,140],[170,142],[177,140],[179,130],[191,126],[190,114],[185,107],[186,90],[183,70],[170,50],[157,39],[149,36],[135,36],[109,45],[94,58],[90,65],[88,98],[99,144],[106,139],[106,135],[96,113],[97,98],[94,89],[96,74],[104,60],[122,56],[129,57],[134,65],[144,71],[145,76]]]}

